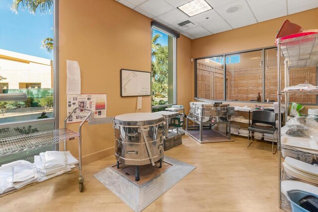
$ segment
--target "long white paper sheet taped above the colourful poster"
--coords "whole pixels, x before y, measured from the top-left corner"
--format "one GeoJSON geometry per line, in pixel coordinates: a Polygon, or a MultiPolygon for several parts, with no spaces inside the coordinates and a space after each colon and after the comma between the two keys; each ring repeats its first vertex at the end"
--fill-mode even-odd
{"type": "Polygon", "coordinates": [[[80,94],[80,69],[77,61],[66,61],[66,94],[80,94]]]}

